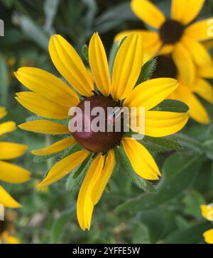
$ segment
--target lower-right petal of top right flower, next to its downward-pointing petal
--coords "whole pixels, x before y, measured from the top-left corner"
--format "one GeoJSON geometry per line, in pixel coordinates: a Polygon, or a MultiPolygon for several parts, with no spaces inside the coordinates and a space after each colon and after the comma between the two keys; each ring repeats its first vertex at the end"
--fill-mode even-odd
{"type": "Polygon", "coordinates": [[[185,35],[182,37],[182,44],[185,46],[187,51],[190,52],[192,60],[194,60],[195,64],[199,67],[206,67],[207,65],[212,64],[212,58],[209,55],[209,52],[201,43],[198,43],[185,35]]]}

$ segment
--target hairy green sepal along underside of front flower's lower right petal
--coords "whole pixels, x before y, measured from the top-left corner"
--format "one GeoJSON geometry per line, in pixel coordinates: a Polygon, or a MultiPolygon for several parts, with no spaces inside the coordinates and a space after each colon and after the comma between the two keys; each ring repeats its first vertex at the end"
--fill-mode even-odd
{"type": "Polygon", "coordinates": [[[150,181],[146,181],[141,176],[138,176],[136,172],[134,172],[123,147],[115,148],[115,154],[116,169],[119,169],[120,172],[123,172],[124,174],[129,176],[131,181],[133,181],[133,183],[136,184],[139,189],[142,189],[143,191],[148,193],[156,193],[155,186],[153,186],[150,181]]]}

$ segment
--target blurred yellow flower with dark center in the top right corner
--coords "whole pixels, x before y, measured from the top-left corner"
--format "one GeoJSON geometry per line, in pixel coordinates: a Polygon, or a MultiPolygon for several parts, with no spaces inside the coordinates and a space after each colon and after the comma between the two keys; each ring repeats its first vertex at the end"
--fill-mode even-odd
{"type": "Polygon", "coordinates": [[[145,60],[158,55],[171,54],[185,82],[195,77],[193,63],[199,67],[211,64],[209,53],[202,41],[212,38],[211,18],[192,23],[200,13],[204,0],[172,0],[171,16],[165,15],[149,0],[132,0],[131,9],[143,22],[155,30],[128,30],[116,36],[141,33],[146,49],[145,60]]]}

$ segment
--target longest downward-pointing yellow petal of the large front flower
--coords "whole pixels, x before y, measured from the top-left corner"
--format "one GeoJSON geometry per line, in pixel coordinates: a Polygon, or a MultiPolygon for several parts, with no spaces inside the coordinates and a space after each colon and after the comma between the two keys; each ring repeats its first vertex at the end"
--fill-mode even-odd
{"type": "Polygon", "coordinates": [[[92,202],[92,192],[97,184],[99,176],[102,174],[104,157],[99,154],[90,165],[77,197],[77,220],[82,230],[89,230],[94,203],[92,202]]]}

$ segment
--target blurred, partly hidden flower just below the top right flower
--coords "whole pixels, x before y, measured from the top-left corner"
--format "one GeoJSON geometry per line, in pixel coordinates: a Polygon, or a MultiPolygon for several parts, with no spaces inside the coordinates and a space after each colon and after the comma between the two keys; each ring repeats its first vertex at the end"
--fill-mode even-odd
{"type": "Polygon", "coordinates": [[[168,99],[177,99],[187,103],[190,117],[198,123],[208,124],[210,122],[206,108],[204,108],[197,95],[213,105],[213,87],[207,79],[213,78],[213,64],[208,67],[196,67],[196,76],[192,84],[186,83],[175,62],[169,55],[160,55],[158,64],[153,74],[154,78],[170,77],[179,82],[178,88],[173,91],[168,99]]]}

